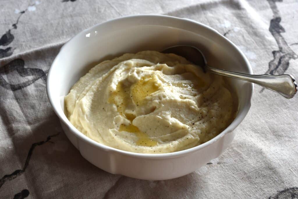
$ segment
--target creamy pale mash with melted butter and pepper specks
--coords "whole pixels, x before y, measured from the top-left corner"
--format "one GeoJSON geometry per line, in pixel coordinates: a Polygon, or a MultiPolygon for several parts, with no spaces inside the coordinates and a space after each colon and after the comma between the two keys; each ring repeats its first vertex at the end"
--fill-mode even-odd
{"type": "Polygon", "coordinates": [[[142,51],[92,68],[65,104],[69,121],[101,144],[168,153],[222,132],[235,118],[238,100],[221,76],[175,54],[142,51]]]}

